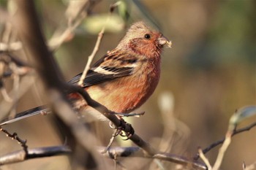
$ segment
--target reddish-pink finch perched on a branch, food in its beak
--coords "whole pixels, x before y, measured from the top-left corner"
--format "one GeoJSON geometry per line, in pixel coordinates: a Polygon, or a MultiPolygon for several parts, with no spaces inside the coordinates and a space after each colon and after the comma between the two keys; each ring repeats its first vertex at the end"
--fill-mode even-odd
{"type": "MultiPolygon", "coordinates": [[[[170,47],[171,42],[158,31],[148,28],[143,22],[132,24],[118,46],[94,63],[83,82],[83,88],[91,98],[113,112],[132,112],[145,103],[157,87],[164,45],[170,47]]],[[[77,83],[80,76],[78,74],[69,82],[77,83]]],[[[89,110],[77,93],[69,94],[69,98],[76,100],[75,107],[89,110]]],[[[37,107],[0,125],[40,112],[42,108],[37,107]]]]}

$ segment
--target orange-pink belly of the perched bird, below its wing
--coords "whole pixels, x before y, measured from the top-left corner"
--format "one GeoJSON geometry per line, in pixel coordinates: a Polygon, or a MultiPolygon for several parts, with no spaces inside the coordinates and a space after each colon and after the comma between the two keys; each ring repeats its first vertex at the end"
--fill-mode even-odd
{"type": "Polygon", "coordinates": [[[113,112],[127,113],[140,107],[157,87],[157,79],[151,77],[123,77],[87,89],[91,98],[113,112]]]}

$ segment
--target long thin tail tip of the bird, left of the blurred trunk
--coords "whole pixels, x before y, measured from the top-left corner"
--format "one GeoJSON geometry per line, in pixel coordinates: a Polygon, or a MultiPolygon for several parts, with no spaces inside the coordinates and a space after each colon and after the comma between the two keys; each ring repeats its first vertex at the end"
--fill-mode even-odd
{"type": "Polygon", "coordinates": [[[41,106],[41,107],[35,107],[33,109],[29,109],[26,110],[24,112],[20,112],[17,115],[15,115],[14,118],[7,118],[5,120],[1,120],[0,121],[0,125],[7,125],[9,123],[14,123],[18,120],[22,120],[25,119],[26,117],[31,117],[34,115],[48,115],[51,112],[51,110],[49,109],[49,107],[47,105],[45,106],[41,106]]]}

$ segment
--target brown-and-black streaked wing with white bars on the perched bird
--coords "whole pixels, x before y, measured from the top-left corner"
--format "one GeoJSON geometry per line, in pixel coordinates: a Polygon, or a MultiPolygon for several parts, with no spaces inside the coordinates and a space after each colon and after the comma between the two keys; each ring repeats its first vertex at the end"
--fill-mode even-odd
{"type": "MultiPolygon", "coordinates": [[[[83,87],[97,85],[101,82],[126,77],[133,73],[137,59],[128,53],[113,51],[99,59],[89,70],[86,79],[83,81],[83,87]]],[[[80,80],[81,73],[73,77],[69,83],[77,83],[80,80]]]]}

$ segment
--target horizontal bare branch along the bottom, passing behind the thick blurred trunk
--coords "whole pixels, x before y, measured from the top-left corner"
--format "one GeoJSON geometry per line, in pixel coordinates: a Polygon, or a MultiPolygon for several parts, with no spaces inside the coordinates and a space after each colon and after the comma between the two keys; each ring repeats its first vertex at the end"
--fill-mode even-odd
{"type": "MultiPolygon", "coordinates": [[[[146,152],[140,149],[140,147],[110,147],[108,152],[105,151],[105,147],[98,147],[98,152],[101,152],[102,155],[107,156],[108,158],[121,158],[121,157],[137,157],[137,158],[156,158],[163,161],[170,161],[179,163],[184,166],[192,166],[195,169],[207,169],[206,166],[202,163],[196,161],[189,161],[186,158],[182,158],[177,155],[168,154],[165,152],[159,152],[155,155],[148,155],[146,152]]],[[[0,166],[8,163],[15,163],[20,161],[26,161],[33,158],[44,158],[56,155],[67,155],[70,154],[72,150],[69,147],[54,146],[54,147],[39,147],[28,149],[27,155],[23,150],[9,153],[0,157],[0,166]]]]}

